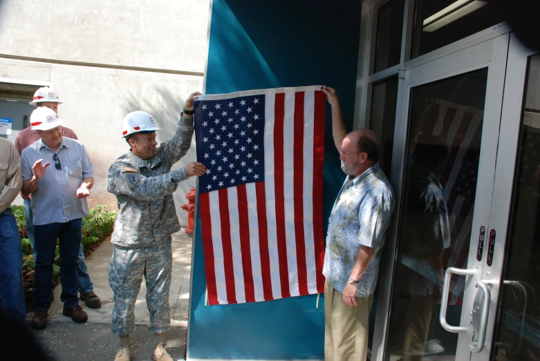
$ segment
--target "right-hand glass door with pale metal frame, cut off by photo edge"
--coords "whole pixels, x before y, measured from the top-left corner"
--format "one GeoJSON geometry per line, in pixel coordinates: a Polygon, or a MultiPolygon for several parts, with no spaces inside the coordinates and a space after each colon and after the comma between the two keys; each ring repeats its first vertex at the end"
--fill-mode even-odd
{"type": "Polygon", "coordinates": [[[513,35],[489,229],[491,348],[473,360],[540,360],[540,54],[513,35]]]}

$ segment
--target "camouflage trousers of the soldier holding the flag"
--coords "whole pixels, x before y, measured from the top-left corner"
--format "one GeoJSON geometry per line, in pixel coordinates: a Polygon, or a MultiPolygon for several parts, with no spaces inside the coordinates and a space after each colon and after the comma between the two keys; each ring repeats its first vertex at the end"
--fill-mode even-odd
{"type": "Polygon", "coordinates": [[[152,247],[129,248],[114,245],[109,284],[114,293],[111,329],[115,335],[127,335],[135,328],[135,302],[143,275],[150,312],[149,331],[162,333],[171,328],[171,273],[171,237],[152,247]]]}

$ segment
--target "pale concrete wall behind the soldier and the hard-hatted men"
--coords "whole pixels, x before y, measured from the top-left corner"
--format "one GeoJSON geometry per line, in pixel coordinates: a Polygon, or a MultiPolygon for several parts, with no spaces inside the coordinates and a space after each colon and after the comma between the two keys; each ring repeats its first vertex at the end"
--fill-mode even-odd
{"type": "MultiPolygon", "coordinates": [[[[0,1],[0,77],[52,81],[64,104],[59,115],[85,144],[94,164],[91,206],[116,209],[106,171],[129,150],[120,138],[127,113],[158,121],[158,142],[176,130],[185,98],[203,89],[210,0],[0,1]]],[[[195,160],[190,150],[177,165],[195,160]]],[[[194,186],[174,193],[179,205],[194,186]]]]}

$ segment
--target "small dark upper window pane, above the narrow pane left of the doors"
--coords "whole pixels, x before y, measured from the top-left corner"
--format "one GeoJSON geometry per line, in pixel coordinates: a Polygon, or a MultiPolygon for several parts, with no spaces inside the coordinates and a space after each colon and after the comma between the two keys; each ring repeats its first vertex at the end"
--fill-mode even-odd
{"type": "Polygon", "coordinates": [[[404,0],[390,0],[379,9],[375,72],[400,64],[404,8],[404,0]]]}

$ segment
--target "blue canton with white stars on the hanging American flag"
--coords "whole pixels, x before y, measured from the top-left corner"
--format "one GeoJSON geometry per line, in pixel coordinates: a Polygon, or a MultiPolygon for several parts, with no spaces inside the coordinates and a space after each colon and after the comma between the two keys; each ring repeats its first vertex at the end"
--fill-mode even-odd
{"type": "Polygon", "coordinates": [[[264,180],[264,96],[195,101],[199,193],[264,180]]]}

